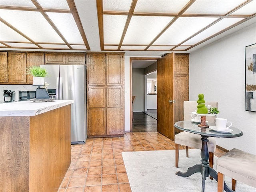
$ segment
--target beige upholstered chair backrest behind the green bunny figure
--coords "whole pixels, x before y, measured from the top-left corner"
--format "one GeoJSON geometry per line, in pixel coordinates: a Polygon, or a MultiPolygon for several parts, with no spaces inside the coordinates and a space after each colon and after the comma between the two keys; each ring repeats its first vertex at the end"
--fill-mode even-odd
{"type": "MultiPolygon", "coordinates": [[[[196,101],[184,101],[183,103],[183,116],[184,121],[192,119],[191,112],[197,110],[198,103],[196,101]]],[[[218,102],[205,102],[205,105],[211,105],[212,107],[218,108],[218,102]]],[[[216,116],[206,116],[206,120],[209,122],[214,122],[216,116]]]]}

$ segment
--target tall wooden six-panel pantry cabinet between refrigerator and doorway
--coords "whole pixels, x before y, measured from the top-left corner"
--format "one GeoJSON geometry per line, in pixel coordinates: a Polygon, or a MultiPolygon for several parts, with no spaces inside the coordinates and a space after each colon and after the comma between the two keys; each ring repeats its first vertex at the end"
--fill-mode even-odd
{"type": "Polygon", "coordinates": [[[87,136],[124,135],[124,53],[86,53],[87,136]]]}

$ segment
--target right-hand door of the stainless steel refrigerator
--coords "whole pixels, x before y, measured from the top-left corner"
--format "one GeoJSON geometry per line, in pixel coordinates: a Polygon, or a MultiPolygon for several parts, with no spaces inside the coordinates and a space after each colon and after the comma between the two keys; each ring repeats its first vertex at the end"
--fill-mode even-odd
{"type": "MultiPolygon", "coordinates": [[[[82,65],[60,65],[62,100],[74,100],[71,105],[71,143],[86,140],[86,72],[82,65]]],[[[61,86],[60,86],[61,87],[61,86]]]]}

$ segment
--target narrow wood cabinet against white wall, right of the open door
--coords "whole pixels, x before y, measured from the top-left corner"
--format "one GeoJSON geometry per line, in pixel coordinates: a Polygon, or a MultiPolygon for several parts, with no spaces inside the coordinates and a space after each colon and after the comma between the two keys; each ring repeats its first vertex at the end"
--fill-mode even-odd
{"type": "MultiPolygon", "coordinates": [[[[175,54],[174,63],[174,122],[183,120],[183,102],[189,99],[189,54],[175,54]]],[[[180,132],[175,128],[175,133],[180,132]]]]}

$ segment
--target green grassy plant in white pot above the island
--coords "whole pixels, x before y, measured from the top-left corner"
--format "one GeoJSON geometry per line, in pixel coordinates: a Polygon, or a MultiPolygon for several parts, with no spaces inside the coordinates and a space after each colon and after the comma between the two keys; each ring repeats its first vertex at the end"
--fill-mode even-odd
{"type": "Polygon", "coordinates": [[[27,75],[33,76],[33,85],[44,86],[44,78],[48,77],[48,72],[40,66],[30,66],[26,70],[27,75]]]}

